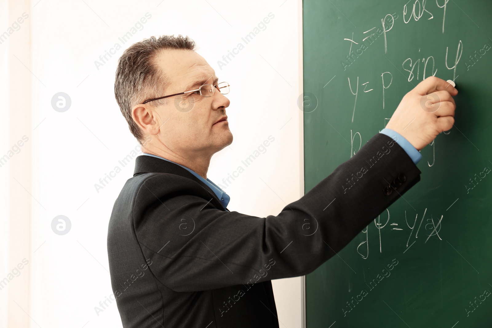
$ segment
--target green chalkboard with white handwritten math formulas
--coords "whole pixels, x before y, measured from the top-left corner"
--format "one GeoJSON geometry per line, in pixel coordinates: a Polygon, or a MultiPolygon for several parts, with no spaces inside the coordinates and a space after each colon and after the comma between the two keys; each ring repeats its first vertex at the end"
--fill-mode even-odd
{"type": "Polygon", "coordinates": [[[424,74],[459,89],[421,181],[307,275],[307,328],[492,327],[492,1],[305,0],[303,17],[306,192],[424,74]]]}

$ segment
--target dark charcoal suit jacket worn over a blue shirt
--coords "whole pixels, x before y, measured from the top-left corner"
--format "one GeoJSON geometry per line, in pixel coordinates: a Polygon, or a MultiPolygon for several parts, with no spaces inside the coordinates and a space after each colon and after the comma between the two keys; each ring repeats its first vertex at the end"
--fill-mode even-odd
{"type": "Polygon", "coordinates": [[[123,327],[278,327],[271,280],[319,267],[420,173],[378,133],[278,215],[256,217],[226,211],[182,167],[138,156],[108,230],[123,327]]]}

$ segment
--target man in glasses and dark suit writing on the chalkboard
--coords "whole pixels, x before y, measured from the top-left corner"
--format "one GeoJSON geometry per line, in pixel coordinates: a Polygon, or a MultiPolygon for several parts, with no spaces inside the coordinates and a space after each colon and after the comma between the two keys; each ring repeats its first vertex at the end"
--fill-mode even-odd
{"type": "Polygon", "coordinates": [[[278,327],[271,280],[312,272],[420,180],[418,150],[453,126],[458,91],[422,81],[387,129],[277,216],[260,218],[229,211],[229,196],[207,179],[212,155],[233,140],[229,85],[194,49],[181,35],[151,37],[118,63],[116,99],[144,152],[108,230],[123,327],[278,327]],[[306,220],[318,222],[311,236],[306,220]]]}

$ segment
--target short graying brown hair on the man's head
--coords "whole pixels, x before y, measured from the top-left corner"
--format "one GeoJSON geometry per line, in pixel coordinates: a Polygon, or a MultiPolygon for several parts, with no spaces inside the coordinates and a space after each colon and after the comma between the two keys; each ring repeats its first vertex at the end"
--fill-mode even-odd
{"type": "MultiPolygon", "coordinates": [[[[196,50],[196,44],[188,36],[181,34],[151,36],[132,44],[118,60],[115,77],[115,97],[123,117],[128,122],[130,132],[142,144],[144,133],[131,117],[131,109],[146,99],[159,97],[169,82],[163,72],[155,65],[161,50],[196,50]]],[[[167,99],[149,102],[151,106],[165,105],[167,99]]]]}

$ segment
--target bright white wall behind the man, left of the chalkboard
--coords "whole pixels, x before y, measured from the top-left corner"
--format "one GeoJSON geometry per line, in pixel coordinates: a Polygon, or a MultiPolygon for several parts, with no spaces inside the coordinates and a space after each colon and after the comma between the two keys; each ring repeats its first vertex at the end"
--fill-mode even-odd
{"type": "MultiPolygon", "coordinates": [[[[111,294],[106,235],[110,213],[133,164],[99,192],[94,184],[137,146],[114,98],[114,73],[123,50],[159,34],[189,35],[220,80],[231,85],[226,110],[234,142],[217,153],[208,178],[224,186],[228,206],[256,216],[276,215],[302,196],[301,1],[52,1],[32,0],[33,217],[31,326],[120,327],[116,304],[96,314],[111,294]],[[119,37],[152,15],[126,44],[119,37]],[[248,44],[241,39],[275,15],[248,44]],[[115,43],[122,49],[96,67],[115,43]],[[218,60],[238,43],[244,49],[225,66],[218,60]],[[52,97],[71,106],[57,112],[52,97]],[[245,171],[233,173],[269,136],[275,141],[245,171]],[[65,215],[63,236],[51,229],[65,215]]],[[[301,277],[274,281],[281,327],[302,326],[301,277]]]]}

